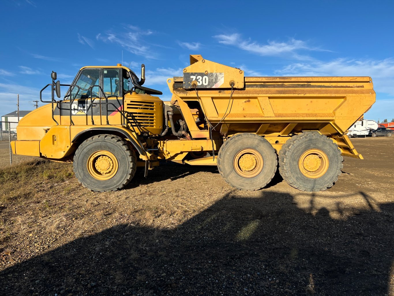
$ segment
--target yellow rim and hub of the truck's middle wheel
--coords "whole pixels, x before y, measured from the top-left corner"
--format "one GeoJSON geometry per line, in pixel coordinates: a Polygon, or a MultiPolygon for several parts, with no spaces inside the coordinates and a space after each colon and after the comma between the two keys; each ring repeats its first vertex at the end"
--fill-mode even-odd
{"type": "Polygon", "coordinates": [[[234,169],[244,178],[253,178],[260,174],[263,165],[263,157],[252,148],[242,149],[234,157],[234,169]]]}

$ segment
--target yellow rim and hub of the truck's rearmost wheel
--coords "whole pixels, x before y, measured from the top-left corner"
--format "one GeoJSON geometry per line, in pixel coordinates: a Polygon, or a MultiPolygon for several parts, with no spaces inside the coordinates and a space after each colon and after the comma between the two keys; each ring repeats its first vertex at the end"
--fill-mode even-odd
{"type": "Polygon", "coordinates": [[[309,149],[299,158],[298,167],[304,176],[311,179],[320,178],[329,167],[327,154],[320,149],[309,149]]]}

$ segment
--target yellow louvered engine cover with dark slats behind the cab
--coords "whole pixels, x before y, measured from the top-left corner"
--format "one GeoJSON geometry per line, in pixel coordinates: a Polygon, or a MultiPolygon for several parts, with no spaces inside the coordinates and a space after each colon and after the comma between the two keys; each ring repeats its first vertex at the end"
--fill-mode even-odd
{"type": "MultiPolygon", "coordinates": [[[[147,96],[147,95],[143,95],[147,96]]],[[[132,123],[131,129],[141,134],[148,132],[158,135],[163,130],[163,101],[158,97],[148,96],[149,100],[133,97],[125,98],[125,111],[132,123]]]]}

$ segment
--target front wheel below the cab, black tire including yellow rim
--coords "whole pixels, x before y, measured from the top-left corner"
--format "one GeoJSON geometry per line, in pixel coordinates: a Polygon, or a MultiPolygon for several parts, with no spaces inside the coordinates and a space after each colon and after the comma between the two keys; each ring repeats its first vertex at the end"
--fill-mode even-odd
{"type": "Polygon", "coordinates": [[[136,173],[134,150],[114,135],[93,136],[80,144],[74,155],[74,172],[91,191],[117,191],[136,173]]]}

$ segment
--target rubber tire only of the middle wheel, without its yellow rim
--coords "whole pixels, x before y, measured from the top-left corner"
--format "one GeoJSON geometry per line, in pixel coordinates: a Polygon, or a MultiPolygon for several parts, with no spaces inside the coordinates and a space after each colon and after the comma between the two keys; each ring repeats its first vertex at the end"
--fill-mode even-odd
{"type": "Polygon", "coordinates": [[[271,182],[277,170],[278,159],[275,149],[263,137],[252,133],[241,133],[230,137],[220,147],[217,155],[217,168],[221,176],[232,187],[254,191],[271,182]],[[234,157],[245,148],[259,152],[263,159],[261,172],[252,178],[240,176],[234,169],[234,157]]]}

